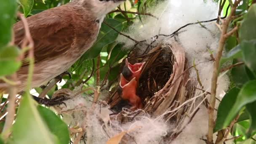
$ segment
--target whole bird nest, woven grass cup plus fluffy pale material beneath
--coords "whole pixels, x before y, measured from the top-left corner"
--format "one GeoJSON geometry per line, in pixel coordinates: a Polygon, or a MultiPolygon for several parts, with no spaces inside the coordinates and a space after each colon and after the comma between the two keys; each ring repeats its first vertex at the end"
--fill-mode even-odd
{"type": "MultiPolygon", "coordinates": [[[[101,101],[99,105],[91,102],[99,96],[97,92],[99,90],[93,89],[94,96],[86,97],[83,92],[87,90],[81,91],[81,87],[73,91],[69,89],[56,91],[53,97],[63,93],[67,93],[69,97],[65,101],[66,105],[54,107],[56,111],[63,115],[64,121],[70,128],[78,126],[83,130],[83,136],[78,135],[76,138],[76,135],[73,135],[72,139],[90,144],[106,141],[109,142],[107,144],[118,144],[120,141],[122,144],[137,144],[136,141],[139,141],[138,143],[151,141],[155,144],[159,143],[157,142],[159,140],[168,143],[190,123],[198,108],[193,107],[194,90],[186,68],[184,48],[175,41],[167,40],[146,50],[144,53],[147,54],[138,53],[138,49],[147,49],[147,47],[147,45],[138,45],[128,55],[128,61],[131,64],[143,62],[143,69],[135,90],[136,96],[140,98],[143,105],[140,109],[129,110],[131,108],[129,102],[121,99],[122,96],[117,92],[121,84],[120,79],[107,96],[107,102],[101,101]],[[109,109],[113,112],[109,112],[109,109]],[[136,126],[136,123],[140,123],[142,127],[136,126]],[[163,126],[166,124],[169,125],[163,126]],[[170,127],[173,128],[166,129],[170,127]],[[128,134],[132,129],[136,131],[128,134]],[[95,135],[95,133],[102,134],[95,135]],[[148,136],[149,133],[150,136],[148,136]],[[112,140],[119,139],[118,136],[121,136],[122,140],[112,143],[112,140]],[[143,137],[147,139],[142,139],[143,137]]],[[[125,83],[129,83],[128,80],[125,83]]]]}

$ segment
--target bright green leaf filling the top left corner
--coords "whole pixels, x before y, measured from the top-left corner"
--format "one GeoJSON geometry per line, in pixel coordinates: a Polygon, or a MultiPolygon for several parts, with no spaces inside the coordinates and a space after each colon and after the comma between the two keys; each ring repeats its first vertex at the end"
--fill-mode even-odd
{"type": "Polygon", "coordinates": [[[0,0],[0,48],[11,41],[16,7],[16,0],[0,0]]]}

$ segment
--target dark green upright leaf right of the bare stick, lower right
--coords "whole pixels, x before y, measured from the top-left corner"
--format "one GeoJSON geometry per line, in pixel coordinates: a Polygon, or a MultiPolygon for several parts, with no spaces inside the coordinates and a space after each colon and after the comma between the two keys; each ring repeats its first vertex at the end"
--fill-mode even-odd
{"type": "Polygon", "coordinates": [[[221,100],[217,112],[217,120],[214,132],[226,128],[226,126],[224,125],[224,121],[229,114],[230,108],[235,104],[235,100],[237,99],[237,94],[239,93],[239,91],[240,90],[238,88],[232,88],[225,94],[225,96],[221,100]]]}

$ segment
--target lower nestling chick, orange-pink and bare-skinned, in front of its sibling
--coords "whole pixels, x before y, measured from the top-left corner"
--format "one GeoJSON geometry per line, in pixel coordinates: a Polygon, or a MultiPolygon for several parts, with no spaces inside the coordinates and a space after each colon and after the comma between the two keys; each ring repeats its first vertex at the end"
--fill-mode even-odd
{"type": "Polygon", "coordinates": [[[122,99],[130,102],[132,105],[132,110],[142,108],[141,98],[136,95],[136,89],[137,81],[135,77],[133,77],[133,79],[129,82],[125,79],[125,77],[123,77],[123,74],[120,74],[120,83],[117,92],[122,99]]]}

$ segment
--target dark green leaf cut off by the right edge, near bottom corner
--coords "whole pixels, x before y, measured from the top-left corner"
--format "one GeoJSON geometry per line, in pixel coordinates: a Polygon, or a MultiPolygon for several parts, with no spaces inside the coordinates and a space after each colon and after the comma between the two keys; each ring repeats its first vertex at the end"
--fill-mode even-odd
{"type": "Polygon", "coordinates": [[[256,131],[256,101],[246,104],[246,109],[250,114],[250,127],[249,131],[247,132],[247,137],[249,138],[252,136],[252,133],[256,131]]]}

